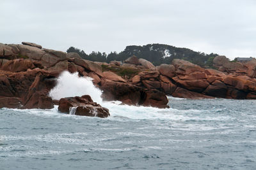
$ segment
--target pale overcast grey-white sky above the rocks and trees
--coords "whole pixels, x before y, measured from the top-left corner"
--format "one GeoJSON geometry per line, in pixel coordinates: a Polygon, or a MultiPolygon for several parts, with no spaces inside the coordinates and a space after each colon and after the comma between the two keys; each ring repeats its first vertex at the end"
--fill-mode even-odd
{"type": "Polygon", "coordinates": [[[0,43],[121,52],[161,43],[256,57],[255,0],[0,0],[0,43]]]}

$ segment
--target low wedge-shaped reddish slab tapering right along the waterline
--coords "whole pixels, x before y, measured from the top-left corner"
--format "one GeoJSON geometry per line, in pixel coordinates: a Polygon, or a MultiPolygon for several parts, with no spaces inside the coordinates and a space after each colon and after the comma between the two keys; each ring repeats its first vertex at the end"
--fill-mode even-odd
{"type": "Polygon", "coordinates": [[[205,96],[197,92],[191,92],[187,89],[177,87],[175,92],[172,93],[173,97],[186,98],[186,99],[213,99],[214,97],[205,96]]]}

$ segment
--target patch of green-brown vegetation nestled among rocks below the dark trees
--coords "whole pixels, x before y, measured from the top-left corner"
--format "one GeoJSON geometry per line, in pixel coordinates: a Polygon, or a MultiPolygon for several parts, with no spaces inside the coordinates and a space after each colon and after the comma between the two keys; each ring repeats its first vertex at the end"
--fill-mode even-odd
{"type": "Polygon", "coordinates": [[[102,65],[102,71],[112,71],[116,74],[118,74],[118,76],[122,76],[122,77],[127,77],[127,78],[131,78],[132,76],[134,76],[135,74],[137,74],[139,72],[138,69],[132,69],[129,67],[118,67],[118,66],[105,66],[102,65]]]}

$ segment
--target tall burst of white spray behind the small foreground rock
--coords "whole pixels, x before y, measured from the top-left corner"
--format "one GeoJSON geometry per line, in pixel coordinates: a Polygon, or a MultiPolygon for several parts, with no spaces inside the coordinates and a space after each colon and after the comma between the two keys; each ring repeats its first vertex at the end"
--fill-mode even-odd
{"type": "Polygon", "coordinates": [[[52,99],[60,100],[63,97],[90,95],[94,102],[102,103],[102,92],[93,85],[92,78],[79,77],[78,73],[63,71],[57,80],[57,85],[50,92],[52,99]]]}

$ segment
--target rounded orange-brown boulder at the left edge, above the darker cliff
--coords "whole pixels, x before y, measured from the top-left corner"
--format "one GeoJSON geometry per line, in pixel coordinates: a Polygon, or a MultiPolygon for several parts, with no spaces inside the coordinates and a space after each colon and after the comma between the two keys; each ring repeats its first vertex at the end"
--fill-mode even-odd
{"type": "Polygon", "coordinates": [[[31,60],[15,59],[6,62],[1,69],[5,71],[20,72],[34,69],[35,66],[31,60]]]}

